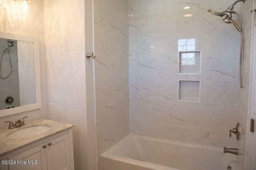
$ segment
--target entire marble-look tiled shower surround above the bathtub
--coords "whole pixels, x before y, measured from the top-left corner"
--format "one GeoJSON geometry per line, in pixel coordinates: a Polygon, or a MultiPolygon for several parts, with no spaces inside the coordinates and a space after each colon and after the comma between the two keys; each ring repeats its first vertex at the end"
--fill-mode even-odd
{"type": "MultiPolygon", "coordinates": [[[[228,136],[228,130],[238,121],[244,129],[247,126],[252,0],[234,8],[243,18],[246,38],[243,89],[238,77],[240,34],[207,12],[224,11],[233,2],[94,1],[99,169],[100,154],[129,130],[182,143],[245,150],[246,135],[237,141],[235,135],[228,136]],[[185,10],[186,6],[190,9],[185,10]]],[[[239,156],[241,169],[244,161],[245,156],[239,156]]]]}

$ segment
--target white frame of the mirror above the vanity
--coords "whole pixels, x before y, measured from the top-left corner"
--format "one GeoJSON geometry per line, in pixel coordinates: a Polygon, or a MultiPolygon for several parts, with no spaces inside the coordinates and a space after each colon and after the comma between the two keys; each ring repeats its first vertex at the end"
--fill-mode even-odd
{"type": "Polygon", "coordinates": [[[34,46],[34,72],[35,72],[35,86],[36,86],[36,103],[35,104],[0,110],[0,117],[41,108],[42,104],[41,104],[40,62],[39,62],[38,39],[34,38],[34,37],[27,37],[24,35],[16,35],[16,34],[5,33],[5,32],[0,32],[0,38],[13,39],[13,40],[18,40],[18,41],[26,41],[26,42],[33,43],[33,46],[34,46]]]}

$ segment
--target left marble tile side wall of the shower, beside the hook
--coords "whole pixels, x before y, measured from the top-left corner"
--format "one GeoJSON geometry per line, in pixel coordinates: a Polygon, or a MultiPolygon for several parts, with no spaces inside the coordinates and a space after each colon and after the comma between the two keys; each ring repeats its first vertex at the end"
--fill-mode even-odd
{"type": "Polygon", "coordinates": [[[129,134],[128,0],[94,0],[98,169],[100,155],[129,134]]]}

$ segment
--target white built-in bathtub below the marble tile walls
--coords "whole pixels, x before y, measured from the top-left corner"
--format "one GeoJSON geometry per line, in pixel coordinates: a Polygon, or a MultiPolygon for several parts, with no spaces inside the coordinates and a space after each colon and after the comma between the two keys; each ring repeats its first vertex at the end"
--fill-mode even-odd
{"type": "Polygon", "coordinates": [[[231,162],[222,149],[130,134],[101,155],[101,170],[227,170],[231,162]]]}

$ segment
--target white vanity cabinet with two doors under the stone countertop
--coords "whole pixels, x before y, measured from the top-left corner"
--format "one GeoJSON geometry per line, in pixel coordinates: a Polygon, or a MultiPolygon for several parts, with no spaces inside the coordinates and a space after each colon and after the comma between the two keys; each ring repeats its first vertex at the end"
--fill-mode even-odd
{"type": "Polygon", "coordinates": [[[10,164],[5,169],[0,166],[0,170],[74,170],[72,129],[32,143],[6,156],[0,157],[1,160],[16,160],[16,164],[10,164]],[[17,161],[26,164],[17,164],[17,161]],[[28,161],[31,161],[30,164],[28,161]]]}

